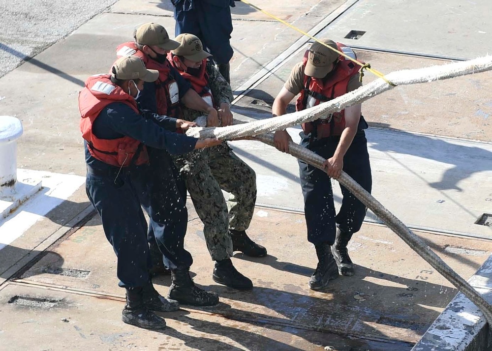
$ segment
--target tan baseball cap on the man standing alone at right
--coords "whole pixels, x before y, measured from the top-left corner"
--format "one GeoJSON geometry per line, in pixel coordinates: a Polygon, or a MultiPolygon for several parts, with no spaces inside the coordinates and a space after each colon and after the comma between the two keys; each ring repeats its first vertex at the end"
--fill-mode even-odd
{"type": "MultiPolygon", "coordinates": [[[[330,39],[321,39],[323,43],[338,50],[337,43],[330,39]]],[[[330,72],[331,64],[338,59],[338,53],[323,44],[315,42],[309,48],[304,73],[309,77],[324,78],[330,72]]]]}

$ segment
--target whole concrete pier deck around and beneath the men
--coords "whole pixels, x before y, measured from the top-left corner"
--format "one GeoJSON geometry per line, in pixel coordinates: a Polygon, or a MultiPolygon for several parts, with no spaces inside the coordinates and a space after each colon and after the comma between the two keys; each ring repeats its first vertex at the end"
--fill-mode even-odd
{"type": "MultiPolygon", "coordinates": [[[[0,115],[23,123],[19,168],[78,179],[85,175],[78,91],[88,76],[107,72],[116,46],[131,40],[135,26],[157,22],[173,36],[172,6],[90,0],[67,8],[52,2],[48,11],[38,1],[0,1],[6,15],[0,24],[0,115]],[[43,19],[47,11],[51,22],[43,19]]],[[[492,53],[489,2],[254,4],[317,38],[355,47],[360,59],[389,73],[492,53]],[[364,33],[346,38],[354,30],[364,33]]],[[[236,4],[232,109],[238,118],[268,118],[310,40],[236,4]]],[[[491,78],[486,72],[397,87],[363,105],[373,195],[464,279],[492,253],[491,228],[476,223],[492,213],[491,78]]],[[[373,79],[366,73],[364,83],[373,79]]],[[[289,132],[298,138],[299,128],[289,132]]],[[[219,294],[220,304],[162,314],[168,328],[161,332],[124,324],[116,257],[81,185],[29,228],[22,226],[22,208],[0,221],[0,233],[19,228],[0,250],[0,350],[411,350],[457,290],[369,213],[349,247],[356,275],[310,291],[316,259],[306,240],[296,160],[258,142],[231,146],[257,173],[248,233],[269,252],[262,259],[233,258],[252,279],[251,292],[213,282],[203,225],[189,203],[191,271],[197,284],[219,294]]],[[[170,280],[154,283],[165,294],[170,280]]]]}

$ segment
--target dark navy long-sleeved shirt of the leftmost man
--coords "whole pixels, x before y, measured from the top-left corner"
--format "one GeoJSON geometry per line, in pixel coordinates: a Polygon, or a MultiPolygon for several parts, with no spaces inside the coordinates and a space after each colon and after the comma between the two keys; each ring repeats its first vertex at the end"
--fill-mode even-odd
{"type": "MultiPolygon", "coordinates": [[[[137,114],[122,102],[106,106],[94,120],[92,133],[99,139],[132,137],[147,146],[165,149],[171,154],[190,152],[198,139],[187,137],[176,131],[176,118],[158,116],[149,111],[137,114]]],[[[114,167],[97,160],[91,155],[85,143],[86,162],[93,168],[114,167]]]]}

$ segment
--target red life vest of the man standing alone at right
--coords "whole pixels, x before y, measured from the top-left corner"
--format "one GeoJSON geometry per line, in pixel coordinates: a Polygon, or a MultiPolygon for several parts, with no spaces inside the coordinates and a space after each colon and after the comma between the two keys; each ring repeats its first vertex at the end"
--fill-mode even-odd
{"type": "MultiPolygon", "coordinates": [[[[346,47],[340,43],[337,43],[337,46],[339,51],[343,51],[346,47]]],[[[304,67],[306,67],[308,53],[309,50],[304,54],[304,67]]],[[[352,76],[359,73],[359,69],[359,65],[340,55],[335,70],[328,78],[319,79],[304,75],[304,89],[301,91],[301,96],[297,99],[296,111],[305,110],[321,102],[330,101],[345,94],[347,92],[348,81],[352,76]]],[[[316,130],[316,138],[318,139],[339,136],[345,129],[345,110],[335,112],[312,122],[303,123],[302,127],[305,134],[316,130]]]]}

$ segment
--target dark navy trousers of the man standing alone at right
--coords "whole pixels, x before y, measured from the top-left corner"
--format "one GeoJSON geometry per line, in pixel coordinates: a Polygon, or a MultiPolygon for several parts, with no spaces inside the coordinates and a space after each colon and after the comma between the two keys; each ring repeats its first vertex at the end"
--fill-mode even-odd
{"type": "MultiPolygon", "coordinates": [[[[311,134],[301,132],[301,146],[329,159],[335,153],[339,137],[312,140],[311,134]]],[[[350,175],[369,193],[372,187],[369,153],[366,134],[357,132],[343,158],[343,171],[350,175]]],[[[307,224],[307,240],[314,244],[327,242],[333,245],[337,226],[342,232],[356,233],[361,229],[366,206],[345,187],[340,185],[343,195],[338,214],[335,211],[331,179],[326,172],[299,161],[301,187],[304,195],[304,211],[307,224]]]]}

